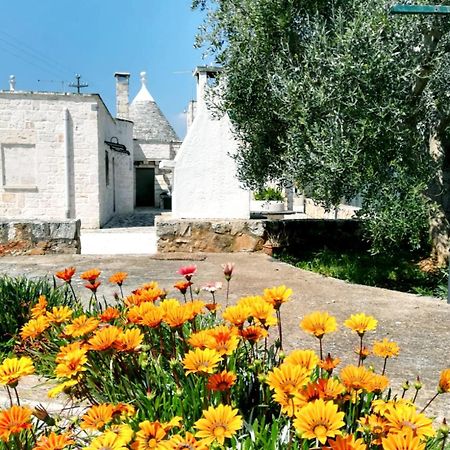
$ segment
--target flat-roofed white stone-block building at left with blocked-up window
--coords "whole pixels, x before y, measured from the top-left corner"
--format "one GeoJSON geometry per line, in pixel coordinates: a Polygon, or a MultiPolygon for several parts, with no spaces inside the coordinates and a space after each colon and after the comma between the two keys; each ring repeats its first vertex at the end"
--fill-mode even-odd
{"type": "Polygon", "coordinates": [[[98,228],[131,212],[132,132],[96,94],[0,92],[0,217],[98,228]],[[105,144],[113,137],[130,154],[105,144]]]}

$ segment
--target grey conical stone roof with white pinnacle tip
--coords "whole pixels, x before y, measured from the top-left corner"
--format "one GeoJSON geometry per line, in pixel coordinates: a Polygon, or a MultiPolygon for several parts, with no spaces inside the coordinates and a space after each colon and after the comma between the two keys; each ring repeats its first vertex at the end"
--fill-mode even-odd
{"type": "Polygon", "coordinates": [[[145,72],[141,72],[141,82],[141,89],[130,105],[130,120],[134,122],[133,137],[145,141],[179,141],[172,125],[147,89],[145,72]]]}

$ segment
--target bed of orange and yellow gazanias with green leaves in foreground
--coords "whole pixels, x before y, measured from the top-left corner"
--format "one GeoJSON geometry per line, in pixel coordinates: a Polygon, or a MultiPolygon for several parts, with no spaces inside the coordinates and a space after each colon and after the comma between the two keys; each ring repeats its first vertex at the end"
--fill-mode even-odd
{"type": "MultiPolygon", "coordinates": [[[[418,411],[408,387],[389,390],[386,370],[395,342],[379,339],[372,352],[381,373],[366,367],[367,334],[377,320],[352,315],[354,365],[336,369],[327,353],[336,319],[323,311],[303,317],[300,328],[317,349],[283,351],[282,305],[286,286],[228,305],[233,265],[222,283],[195,285],[196,267],[180,269],[176,295],[155,281],[124,296],[127,274],[110,278],[120,294],[111,304],[98,297],[101,272],[81,274],[91,292],[84,310],[72,287],[75,269],[57,272],[73,308],[49,307],[39,297],[20,331],[17,350],[0,365],[10,407],[0,411],[5,449],[443,449],[448,428],[435,429],[425,415],[431,401],[450,391],[450,369],[436,394],[418,411]],[[199,298],[200,293],[208,301],[199,298]],[[51,397],[65,394],[89,404],[81,417],[50,415],[21,406],[20,379],[38,371],[57,380],[51,397]]],[[[437,400],[439,401],[439,400],[437,400]]]]}

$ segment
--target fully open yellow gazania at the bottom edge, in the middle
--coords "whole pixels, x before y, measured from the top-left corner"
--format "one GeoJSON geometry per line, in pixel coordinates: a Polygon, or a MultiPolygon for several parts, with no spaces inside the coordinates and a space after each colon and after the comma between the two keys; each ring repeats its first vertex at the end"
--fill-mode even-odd
{"type": "Polygon", "coordinates": [[[203,418],[195,422],[198,432],[195,437],[203,440],[206,445],[218,442],[223,445],[226,438],[231,438],[242,427],[242,418],[237,409],[229,405],[210,406],[203,411],[203,418]]]}

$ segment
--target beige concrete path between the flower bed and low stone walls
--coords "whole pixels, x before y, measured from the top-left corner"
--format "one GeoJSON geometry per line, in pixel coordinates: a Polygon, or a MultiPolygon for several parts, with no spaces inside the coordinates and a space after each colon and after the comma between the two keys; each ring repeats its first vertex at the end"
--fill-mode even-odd
{"type": "MultiPolygon", "coordinates": [[[[0,274],[26,275],[29,277],[51,276],[67,266],[75,266],[77,273],[98,267],[102,272],[100,295],[112,298],[115,287],[109,285],[108,277],[116,271],[127,271],[125,294],[143,282],[157,280],[161,286],[177,296],[172,288],[180,279],[180,266],[194,263],[197,274],[193,281],[202,286],[211,281],[223,281],[221,264],[235,262],[236,268],[231,281],[230,303],[240,297],[258,295],[266,287],[286,284],[294,291],[292,301],[283,305],[282,324],[285,350],[294,348],[317,349],[317,340],[299,329],[299,322],[305,314],[315,310],[326,310],[335,315],[339,331],[325,336],[324,350],[342,359],[344,364],[357,361],[353,353],[358,338],[343,326],[343,321],[358,312],[371,314],[378,319],[375,333],[367,335],[366,344],[374,339],[389,339],[398,342],[401,348],[399,358],[388,361],[387,375],[392,380],[393,394],[405,380],[414,382],[419,375],[424,385],[418,396],[418,403],[424,405],[436,392],[439,373],[450,367],[450,305],[446,302],[419,297],[412,294],[385,289],[352,285],[332,278],[296,269],[262,254],[171,254],[154,256],[25,256],[0,258],[0,274]]],[[[75,276],[76,278],[76,276],[75,276]]],[[[84,298],[87,290],[78,279],[76,289],[84,298]]],[[[204,292],[205,300],[209,293],[204,292]]],[[[224,301],[224,291],[218,299],[224,301]]],[[[369,357],[367,364],[381,369],[381,361],[369,357]]],[[[339,371],[339,367],[338,367],[339,371]]],[[[413,389],[408,396],[414,394],[413,389]]],[[[450,394],[439,396],[429,408],[430,414],[450,417],[450,394]]]]}

